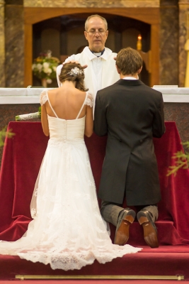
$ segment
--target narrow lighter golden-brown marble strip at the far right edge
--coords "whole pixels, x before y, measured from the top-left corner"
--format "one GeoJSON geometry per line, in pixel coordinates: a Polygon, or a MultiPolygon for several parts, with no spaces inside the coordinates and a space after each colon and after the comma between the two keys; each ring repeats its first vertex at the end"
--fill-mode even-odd
{"type": "Polygon", "coordinates": [[[185,50],[185,42],[187,40],[187,31],[189,29],[189,23],[187,25],[187,13],[189,13],[189,0],[179,0],[179,87],[185,85],[185,70],[187,51],[185,50]]]}

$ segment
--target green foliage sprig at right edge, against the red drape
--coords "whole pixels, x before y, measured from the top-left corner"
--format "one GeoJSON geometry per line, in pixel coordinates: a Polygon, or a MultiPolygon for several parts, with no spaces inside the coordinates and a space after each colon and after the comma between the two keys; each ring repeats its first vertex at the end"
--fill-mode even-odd
{"type": "MultiPolygon", "coordinates": [[[[189,141],[183,143],[183,145],[186,145],[186,147],[189,148],[189,141]]],[[[189,163],[189,153],[188,152],[183,153],[183,151],[178,151],[174,153],[172,159],[175,159],[176,162],[175,162],[175,165],[170,165],[168,167],[167,176],[168,175],[176,176],[176,173],[180,168],[183,168],[183,169],[188,168],[188,163],[189,163]]]]}

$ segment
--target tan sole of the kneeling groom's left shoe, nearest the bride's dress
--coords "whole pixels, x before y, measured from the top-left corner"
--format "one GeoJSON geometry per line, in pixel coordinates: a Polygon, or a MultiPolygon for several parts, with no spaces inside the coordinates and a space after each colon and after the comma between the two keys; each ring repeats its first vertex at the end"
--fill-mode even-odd
{"type": "Polygon", "coordinates": [[[132,224],[133,222],[134,222],[134,217],[130,214],[126,215],[122,219],[118,231],[115,233],[114,244],[118,244],[119,246],[124,246],[127,243],[130,237],[130,224],[132,224]]]}

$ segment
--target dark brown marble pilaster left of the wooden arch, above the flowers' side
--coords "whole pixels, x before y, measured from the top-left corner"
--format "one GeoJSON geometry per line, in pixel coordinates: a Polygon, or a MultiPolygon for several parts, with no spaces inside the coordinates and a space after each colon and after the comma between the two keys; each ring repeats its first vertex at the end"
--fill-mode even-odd
{"type": "Polygon", "coordinates": [[[23,87],[24,31],[23,0],[6,0],[5,4],[5,74],[6,87],[23,87]]]}

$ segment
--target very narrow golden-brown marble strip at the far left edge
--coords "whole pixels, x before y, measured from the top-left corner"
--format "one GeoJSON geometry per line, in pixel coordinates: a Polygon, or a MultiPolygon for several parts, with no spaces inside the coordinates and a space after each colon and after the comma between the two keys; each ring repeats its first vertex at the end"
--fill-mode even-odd
{"type": "Polygon", "coordinates": [[[0,0],[0,87],[5,87],[4,1],[0,0]]]}

